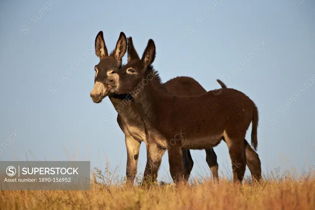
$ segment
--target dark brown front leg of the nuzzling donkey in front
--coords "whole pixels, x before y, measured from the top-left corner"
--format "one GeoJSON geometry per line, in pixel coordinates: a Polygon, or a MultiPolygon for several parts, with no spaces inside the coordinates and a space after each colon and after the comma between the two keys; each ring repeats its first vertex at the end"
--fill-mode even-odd
{"type": "Polygon", "coordinates": [[[182,162],[182,152],[181,148],[177,145],[172,145],[167,149],[169,155],[169,172],[175,184],[180,184],[184,181],[184,166],[182,162]]]}

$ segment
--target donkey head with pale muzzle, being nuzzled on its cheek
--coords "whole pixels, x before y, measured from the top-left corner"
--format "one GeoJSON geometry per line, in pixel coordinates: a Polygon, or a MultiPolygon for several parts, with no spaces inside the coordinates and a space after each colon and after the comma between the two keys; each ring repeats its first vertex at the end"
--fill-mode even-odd
{"type": "Polygon", "coordinates": [[[127,38],[120,32],[116,48],[108,55],[103,32],[100,31],[95,38],[95,54],[100,58],[100,62],[95,65],[94,87],[91,91],[93,102],[100,103],[109,91],[105,81],[109,75],[115,73],[122,66],[122,58],[127,51],[127,38]]]}

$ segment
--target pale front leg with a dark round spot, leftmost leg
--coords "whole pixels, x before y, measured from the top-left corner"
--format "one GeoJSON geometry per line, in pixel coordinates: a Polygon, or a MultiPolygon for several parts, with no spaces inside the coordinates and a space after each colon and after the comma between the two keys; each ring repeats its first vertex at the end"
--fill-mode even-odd
{"type": "Polygon", "coordinates": [[[125,135],[125,143],[127,147],[127,182],[133,185],[135,176],[137,175],[138,157],[141,143],[135,140],[130,134],[125,135]]]}

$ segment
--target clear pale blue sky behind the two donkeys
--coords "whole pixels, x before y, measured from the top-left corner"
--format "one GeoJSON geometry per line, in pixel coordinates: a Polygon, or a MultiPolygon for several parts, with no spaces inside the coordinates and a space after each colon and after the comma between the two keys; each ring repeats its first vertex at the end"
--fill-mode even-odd
{"type": "MultiPolygon", "coordinates": [[[[315,168],[314,9],[311,0],[2,2],[0,160],[75,158],[104,168],[107,158],[125,175],[117,113],[108,98],[95,104],[89,97],[102,30],[108,50],[121,31],[139,54],[152,38],[153,64],[164,82],[191,76],[209,91],[221,79],[248,95],[259,109],[263,172],[315,168]]],[[[230,161],[226,144],[215,152],[223,172],[230,161]]],[[[143,172],[144,143],[139,156],[143,172]]],[[[211,174],[204,151],[192,156],[192,177],[211,174]]],[[[168,170],[166,154],[159,179],[169,178],[168,170]]]]}

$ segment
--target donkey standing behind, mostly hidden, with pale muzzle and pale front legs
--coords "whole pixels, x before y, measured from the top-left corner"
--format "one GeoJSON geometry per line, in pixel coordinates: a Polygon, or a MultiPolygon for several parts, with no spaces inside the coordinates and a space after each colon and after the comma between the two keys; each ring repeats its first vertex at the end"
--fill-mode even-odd
{"type": "MultiPolygon", "coordinates": [[[[125,134],[127,147],[127,180],[134,183],[137,173],[137,163],[139,157],[140,143],[146,143],[147,163],[144,173],[145,181],[155,181],[157,172],[161,164],[162,156],[166,148],[161,148],[154,141],[146,137],[144,122],[138,113],[135,102],[127,94],[117,95],[109,93],[105,84],[106,79],[111,74],[119,71],[122,67],[122,58],[127,50],[127,38],[123,32],[120,33],[115,49],[108,54],[103,32],[100,31],[95,38],[95,54],[100,58],[100,62],[95,66],[94,88],[91,91],[91,98],[95,103],[100,103],[104,97],[109,96],[113,106],[118,112],[117,122],[125,134]],[[149,180],[153,178],[153,180],[149,180]]],[[[131,54],[133,52],[130,52],[131,54]]],[[[129,57],[128,57],[129,59],[129,57]]],[[[220,81],[221,82],[221,81],[220,81]]],[[[226,87],[221,82],[222,87],[226,87]]],[[[206,90],[194,79],[189,77],[176,77],[161,84],[166,90],[175,95],[198,95],[206,90]]],[[[206,161],[210,167],[214,180],[218,179],[217,156],[213,148],[207,148],[206,161]]],[[[192,156],[187,149],[182,150],[182,160],[184,163],[184,177],[189,178],[193,166],[192,156]]]]}

